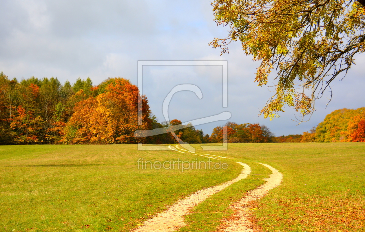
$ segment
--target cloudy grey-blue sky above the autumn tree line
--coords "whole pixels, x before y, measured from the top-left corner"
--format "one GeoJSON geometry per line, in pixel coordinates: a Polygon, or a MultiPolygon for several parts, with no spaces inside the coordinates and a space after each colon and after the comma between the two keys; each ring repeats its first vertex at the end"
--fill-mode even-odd
{"type": "Polygon", "coordinates": [[[329,93],[316,101],[308,122],[298,125],[299,114],[288,107],[273,121],[259,117],[271,89],[254,82],[259,62],[239,43],[222,56],[208,46],[227,36],[227,28],[214,22],[210,1],[2,0],[0,15],[0,71],[11,79],[53,76],[73,83],[90,77],[97,85],[119,76],[137,84],[138,60],[227,60],[228,107],[222,106],[222,66],[144,66],[142,94],[160,122],[166,120],[162,103],[179,84],[195,84],[203,98],[191,91],[174,94],[170,120],[231,113],[226,121],[196,126],[208,134],[227,121],[260,123],[277,136],[301,134],[336,109],[365,107],[365,55],[360,54],[346,77],[331,83],[331,102],[329,93]]]}

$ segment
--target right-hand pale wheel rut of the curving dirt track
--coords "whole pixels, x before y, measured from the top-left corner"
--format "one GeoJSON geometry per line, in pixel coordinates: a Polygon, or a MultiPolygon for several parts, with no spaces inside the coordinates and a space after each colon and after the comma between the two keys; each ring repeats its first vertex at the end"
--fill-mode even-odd
{"type": "MultiPolygon", "coordinates": [[[[261,163],[259,163],[261,164],[261,163]]],[[[251,190],[245,198],[242,200],[233,203],[230,208],[233,209],[236,214],[231,217],[228,221],[223,221],[224,227],[220,228],[219,231],[224,232],[253,232],[251,222],[247,219],[247,213],[249,212],[250,201],[257,200],[265,196],[270,189],[273,189],[280,185],[281,180],[283,179],[283,175],[274,169],[272,166],[267,164],[262,164],[269,168],[273,173],[270,174],[270,177],[265,179],[267,182],[260,187],[251,190]]]]}

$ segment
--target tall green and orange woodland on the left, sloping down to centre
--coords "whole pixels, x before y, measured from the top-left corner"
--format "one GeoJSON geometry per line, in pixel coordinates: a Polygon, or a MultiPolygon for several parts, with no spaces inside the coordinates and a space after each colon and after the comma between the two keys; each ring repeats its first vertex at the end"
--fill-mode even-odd
{"type": "MultiPolygon", "coordinates": [[[[170,144],[170,134],[147,138],[136,130],[181,124],[174,119],[158,122],[148,99],[124,78],[108,78],[97,86],[78,78],[64,84],[57,78],[32,76],[20,82],[0,73],[0,144],[170,144]],[[139,98],[140,97],[140,98],[139,98]],[[142,102],[142,125],[138,125],[138,101],[142,102]]],[[[189,143],[208,143],[210,136],[190,126],[177,131],[189,143]]]]}

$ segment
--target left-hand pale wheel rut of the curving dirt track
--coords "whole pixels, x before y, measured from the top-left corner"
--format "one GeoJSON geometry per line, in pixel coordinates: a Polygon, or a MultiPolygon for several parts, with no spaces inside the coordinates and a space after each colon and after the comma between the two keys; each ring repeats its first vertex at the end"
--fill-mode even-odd
{"type": "Polygon", "coordinates": [[[238,177],[234,178],[231,181],[227,181],[222,185],[213,186],[210,188],[202,189],[196,193],[191,194],[185,199],[177,201],[166,211],[157,214],[152,219],[145,221],[145,223],[135,229],[135,232],[171,232],[176,231],[177,228],[183,227],[186,224],[184,223],[183,215],[189,213],[189,209],[194,207],[196,204],[204,201],[206,198],[211,195],[219,192],[220,190],[226,188],[227,186],[247,178],[247,176],[251,173],[251,168],[247,164],[243,164],[241,162],[237,162],[242,165],[244,168],[241,174],[238,177]]]}

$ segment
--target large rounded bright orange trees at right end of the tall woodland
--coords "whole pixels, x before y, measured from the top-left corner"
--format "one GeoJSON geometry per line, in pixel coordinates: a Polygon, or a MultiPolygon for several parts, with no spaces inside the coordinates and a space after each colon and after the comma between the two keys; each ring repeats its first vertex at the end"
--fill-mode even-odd
{"type": "Polygon", "coordinates": [[[137,143],[135,130],[150,127],[149,105],[146,96],[142,101],[142,125],[137,122],[138,87],[124,78],[115,78],[105,92],[75,104],[74,113],[64,129],[64,143],[137,143]]]}

